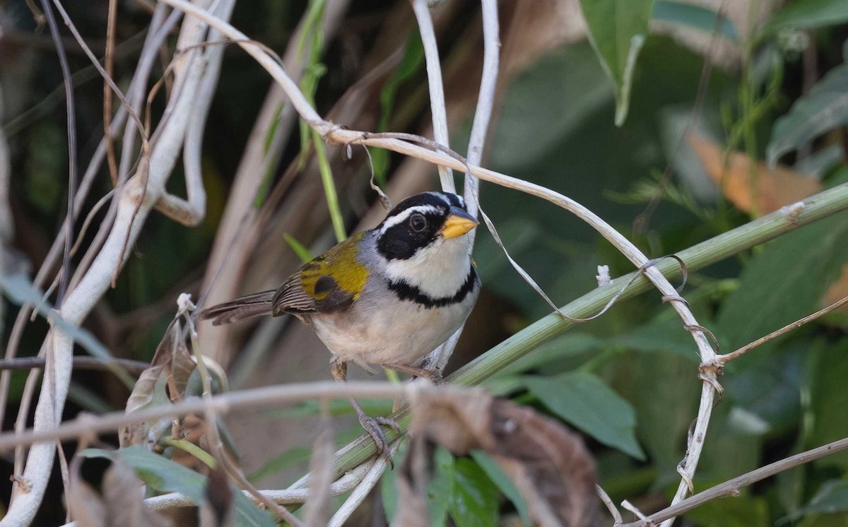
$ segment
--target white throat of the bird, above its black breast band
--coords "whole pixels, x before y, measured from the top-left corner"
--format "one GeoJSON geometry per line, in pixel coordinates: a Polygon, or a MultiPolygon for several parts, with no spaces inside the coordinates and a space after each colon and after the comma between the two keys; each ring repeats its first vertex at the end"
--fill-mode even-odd
{"type": "Polygon", "coordinates": [[[452,297],[468,279],[471,267],[468,241],[467,235],[439,238],[419,249],[412,258],[388,262],[386,276],[417,287],[427,297],[452,297]]]}

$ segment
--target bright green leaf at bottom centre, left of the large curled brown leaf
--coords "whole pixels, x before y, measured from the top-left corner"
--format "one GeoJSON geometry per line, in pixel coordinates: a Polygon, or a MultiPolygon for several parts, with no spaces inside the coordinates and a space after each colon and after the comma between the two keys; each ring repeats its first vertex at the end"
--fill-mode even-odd
{"type": "Polygon", "coordinates": [[[454,491],[448,502],[456,527],[494,527],[498,524],[498,490],[472,459],[454,462],[454,491]]]}

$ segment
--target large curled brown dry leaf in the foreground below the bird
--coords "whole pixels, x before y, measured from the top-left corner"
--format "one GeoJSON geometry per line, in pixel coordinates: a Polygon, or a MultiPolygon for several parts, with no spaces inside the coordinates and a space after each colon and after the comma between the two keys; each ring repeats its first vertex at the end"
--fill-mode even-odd
{"type": "MultiPolygon", "coordinates": [[[[594,460],[580,436],[562,424],[483,390],[462,391],[461,396],[456,391],[421,393],[412,415],[414,441],[434,441],[458,455],[483,449],[494,458],[522,493],[536,524],[596,523],[594,460]]],[[[413,474],[414,484],[404,485],[420,491],[423,469],[416,469],[415,459],[406,463],[411,469],[401,475],[413,474]]],[[[399,496],[404,493],[408,496],[410,489],[399,488],[399,496]]]]}

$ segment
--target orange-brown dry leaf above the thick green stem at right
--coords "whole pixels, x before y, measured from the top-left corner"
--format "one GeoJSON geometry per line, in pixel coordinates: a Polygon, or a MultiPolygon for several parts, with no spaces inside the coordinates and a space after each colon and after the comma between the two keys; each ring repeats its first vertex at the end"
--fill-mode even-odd
{"type": "Polygon", "coordinates": [[[755,210],[752,194],[756,197],[756,212],[769,214],[822,190],[819,181],[793,170],[782,166],[768,169],[767,164],[752,162],[745,153],[740,152],[731,153],[725,161],[722,149],[717,144],[694,133],[686,139],[724,197],[742,212],[755,210]],[[751,163],[756,163],[753,172],[751,163]],[[756,186],[752,186],[752,174],[756,178],[756,186]],[[752,189],[755,192],[751,192],[752,189]]]}

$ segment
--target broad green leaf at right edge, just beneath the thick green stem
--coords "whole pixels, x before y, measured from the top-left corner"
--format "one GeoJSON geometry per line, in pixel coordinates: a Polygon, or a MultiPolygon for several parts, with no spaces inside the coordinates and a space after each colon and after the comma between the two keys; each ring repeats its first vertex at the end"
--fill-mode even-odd
{"type": "MultiPolygon", "coordinates": [[[[713,332],[744,346],[816,311],[848,257],[848,214],[841,213],[772,241],[745,266],[713,332]]],[[[773,347],[780,339],[768,342],[773,347]]],[[[763,347],[755,353],[764,353],[763,347]]],[[[749,358],[739,358],[745,363],[749,358]]]]}

